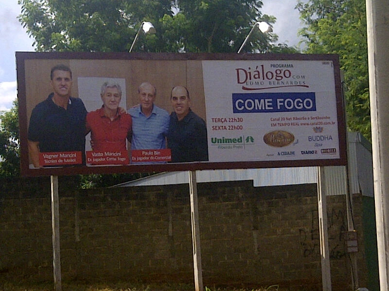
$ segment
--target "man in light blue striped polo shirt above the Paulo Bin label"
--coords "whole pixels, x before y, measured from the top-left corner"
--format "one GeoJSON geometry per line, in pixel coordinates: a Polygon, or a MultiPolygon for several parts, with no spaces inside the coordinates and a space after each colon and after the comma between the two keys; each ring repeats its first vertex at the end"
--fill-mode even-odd
{"type": "Polygon", "coordinates": [[[131,150],[166,148],[169,113],[154,105],[157,90],[149,82],[138,88],[140,105],[130,108],[132,117],[131,150]]]}

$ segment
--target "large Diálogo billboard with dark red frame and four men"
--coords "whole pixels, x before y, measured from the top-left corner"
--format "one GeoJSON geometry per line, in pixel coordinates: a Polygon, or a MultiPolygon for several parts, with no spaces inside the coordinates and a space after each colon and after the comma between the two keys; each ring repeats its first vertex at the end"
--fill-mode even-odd
{"type": "Polygon", "coordinates": [[[346,164],[337,55],[16,60],[24,176],[346,164]]]}

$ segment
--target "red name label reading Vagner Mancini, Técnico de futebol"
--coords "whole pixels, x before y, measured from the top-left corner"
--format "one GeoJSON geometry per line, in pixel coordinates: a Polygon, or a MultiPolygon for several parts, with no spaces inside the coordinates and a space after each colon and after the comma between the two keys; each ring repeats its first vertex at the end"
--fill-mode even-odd
{"type": "Polygon", "coordinates": [[[81,163],[82,153],[80,151],[39,153],[39,165],[42,167],[76,165],[81,163]]]}

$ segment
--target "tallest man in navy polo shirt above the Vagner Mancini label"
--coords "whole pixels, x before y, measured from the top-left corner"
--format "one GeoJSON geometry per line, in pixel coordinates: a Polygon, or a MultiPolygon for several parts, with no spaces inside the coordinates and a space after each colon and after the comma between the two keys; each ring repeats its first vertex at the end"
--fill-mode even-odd
{"type": "Polygon", "coordinates": [[[56,65],[50,74],[53,93],[35,106],[28,128],[31,161],[39,167],[40,152],[81,151],[85,162],[85,118],[80,98],[71,97],[71,69],[56,65]]]}

